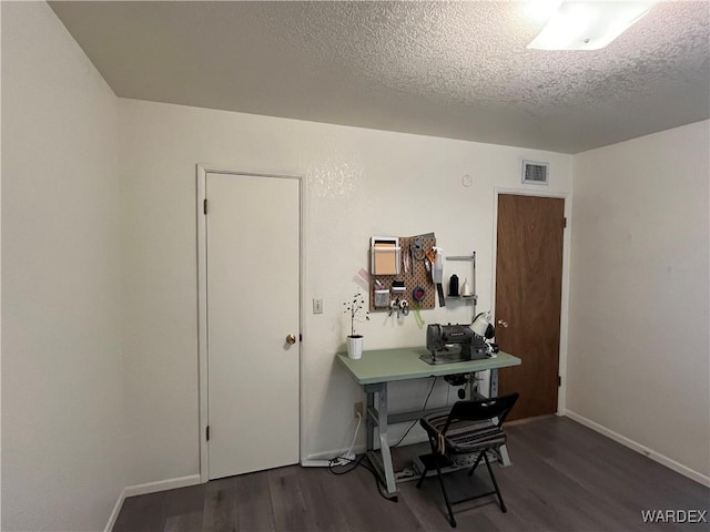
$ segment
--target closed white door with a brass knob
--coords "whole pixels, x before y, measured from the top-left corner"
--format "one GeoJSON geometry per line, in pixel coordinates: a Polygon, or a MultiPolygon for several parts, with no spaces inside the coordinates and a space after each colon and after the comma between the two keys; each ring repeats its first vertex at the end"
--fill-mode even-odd
{"type": "Polygon", "coordinates": [[[298,462],[298,188],[205,174],[211,479],[298,462]]]}

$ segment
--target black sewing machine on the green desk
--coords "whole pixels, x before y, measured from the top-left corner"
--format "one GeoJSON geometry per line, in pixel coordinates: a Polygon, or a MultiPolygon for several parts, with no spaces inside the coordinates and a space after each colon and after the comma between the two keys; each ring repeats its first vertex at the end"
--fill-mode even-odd
{"type": "Polygon", "coordinates": [[[422,355],[419,358],[433,365],[479,360],[491,352],[486,339],[474,332],[468,325],[427,326],[426,348],[429,355],[422,355]]]}

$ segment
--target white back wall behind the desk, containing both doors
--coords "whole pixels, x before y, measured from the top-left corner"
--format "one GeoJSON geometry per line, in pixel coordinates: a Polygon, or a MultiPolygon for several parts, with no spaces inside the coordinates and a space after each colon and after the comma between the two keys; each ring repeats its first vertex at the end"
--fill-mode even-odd
{"type": "MultiPolygon", "coordinates": [[[[570,190],[569,155],[131,100],[121,101],[120,116],[126,396],[130,432],[141,434],[131,449],[140,461],[136,482],[199,471],[196,163],[305,177],[304,458],[342,450],[352,438],[359,390],[334,355],[346,336],[343,301],[367,268],[369,236],[434,231],[446,254],[476,250],[478,308],[487,309],[494,187],[520,188],[520,160],[528,157],[550,162],[547,190],[570,190]],[[464,174],[474,178],[469,188],[464,174]],[[323,315],[311,314],[315,297],[324,300],[323,315]]],[[[447,307],[424,316],[470,320],[470,311],[447,307]]],[[[361,330],[369,349],[425,341],[413,315],[398,325],[378,313],[361,330]]],[[[393,390],[393,408],[419,405],[427,387],[424,380],[393,390]]]]}

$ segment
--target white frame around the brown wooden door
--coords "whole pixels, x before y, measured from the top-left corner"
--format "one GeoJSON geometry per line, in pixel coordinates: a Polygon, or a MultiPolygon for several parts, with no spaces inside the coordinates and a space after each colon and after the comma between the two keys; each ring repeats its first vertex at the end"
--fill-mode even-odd
{"type": "Polygon", "coordinates": [[[562,378],[562,383],[557,390],[557,416],[564,416],[567,405],[567,336],[569,326],[569,259],[570,259],[570,236],[571,236],[571,193],[552,192],[552,191],[535,191],[528,188],[506,188],[494,187],[493,194],[493,272],[490,275],[490,311],[496,315],[496,278],[498,268],[498,196],[536,196],[562,198],[565,201],[565,218],[567,226],[562,235],[562,296],[560,301],[560,321],[559,321],[559,362],[558,372],[562,378]]]}

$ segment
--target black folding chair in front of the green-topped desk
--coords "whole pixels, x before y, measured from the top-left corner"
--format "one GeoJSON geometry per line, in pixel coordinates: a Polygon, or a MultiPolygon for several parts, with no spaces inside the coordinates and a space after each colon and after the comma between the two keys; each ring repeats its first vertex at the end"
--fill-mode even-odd
{"type": "Polygon", "coordinates": [[[422,488],[422,482],[424,482],[426,473],[432,469],[436,469],[452,526],[456,526],[454,511],[452,510],[453,504],[471,501],[495,493],[498,497],[500,510],[504,512],[507,511],[506,504],[503,502],[503,495],[498,489],[498,482],[496,482],[496,475],[490,468],[488,452],[498,449],[506,442],[506,434],[501,428],[503,422],[517,400],[518,393],[511,393],[509,396],[475,401],[457,401],[448,415],[432,415],[420,420],[422,427],[424,427],[424,430],[426,430],[429,437],[432,454],[423,457],[424,472],[417,482],[417,488],[422,488]],[[488,468],[490,480],[493,481],[493,491],[458,501],[449,501],[444,485],[442,467],[452,463],[452,456],[476,453],[478,453],[478,457],[474,462],[474,467],[468,471],[468,475],[474,474],[474,471],[483,458],[486,462],[486,468],[488,468]]]}

